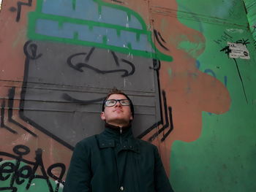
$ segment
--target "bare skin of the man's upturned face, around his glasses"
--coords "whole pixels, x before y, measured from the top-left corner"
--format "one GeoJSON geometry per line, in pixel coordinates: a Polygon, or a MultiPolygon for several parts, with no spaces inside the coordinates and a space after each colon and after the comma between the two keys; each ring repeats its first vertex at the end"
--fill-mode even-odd
{"type": "MultiPolygon", "coordinates": [[[[109,99],[127,99],[127,97],[122,94],[112,94],[109,99]]],[[[132,120],[132,112],[130,106],[122,106],[120,102],[116,102],[112,107],[105,106],[105,110],[100,117],[114,126],[127,126],[129,121],[132,120]]]]}

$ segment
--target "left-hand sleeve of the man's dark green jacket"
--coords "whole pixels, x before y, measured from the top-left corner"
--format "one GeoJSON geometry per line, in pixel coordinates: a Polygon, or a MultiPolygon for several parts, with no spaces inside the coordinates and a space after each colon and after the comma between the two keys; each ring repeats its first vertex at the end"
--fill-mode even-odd
{"type": "Polygon", "coordinates": [[[63,192],[90,192],[91,168],[89,151],[80,142],[75,146],[63,192]]]}

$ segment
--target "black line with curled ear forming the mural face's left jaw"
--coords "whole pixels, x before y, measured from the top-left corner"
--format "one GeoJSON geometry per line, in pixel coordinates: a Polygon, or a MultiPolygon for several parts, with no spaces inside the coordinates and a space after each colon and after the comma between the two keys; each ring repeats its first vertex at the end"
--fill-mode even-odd
{"type": "Polygon", "coordinates": [[[24,115],[24,105],[25,105],[26,88],[27,88],[28,78],[29,78],[30,60],[37,60],[42,56],[42,54],[41,53],[37,54],[37,45],[31,40],[25,43],[25,45],[23,46],[23,52],[26,58],[25,58],[25,64],[24,64],[25,69],[24,69],[23,85],[20,93],[20,110],[19,110],[20,118],[24,120],[26,123],[29,123],[31,126],[34,126],[34,128],[37,128],[39,131],[42,131],[44,134],[47,134],[49,137],[55,139],[57,142],[67,147],[69,150],[74,150],[74,147],[72,145],[69,145],[69,143],[65,142],[63,139],[52,134],[50,131],[43,128],[42,126],[39,126],[39,124],[35,123],[34,120],[31,120],[30,118],[26,117],[26,115],[24,115]],[[29,51],[31,51],[32,53],[31,55],[29,54],[29,51]]]}

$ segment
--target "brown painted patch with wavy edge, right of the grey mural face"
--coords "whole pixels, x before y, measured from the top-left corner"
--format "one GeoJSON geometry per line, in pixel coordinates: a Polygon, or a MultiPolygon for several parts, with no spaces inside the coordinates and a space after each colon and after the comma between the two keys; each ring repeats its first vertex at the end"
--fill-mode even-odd
{"type": "MultiPolygon", "coordinates": [[[[181,24],[176,15],[172,15],[175,13],[173,10],[177,10],[175,1],[151,1],[154,29],[165,39],[166,43],[163,45],[169,51],[157,43],[156,46],[161,52],[173,57],[171,63],[162,62],[159,72],[160,87],[166,92],[167,106],[172,107],[173,111],[173,131],[165,142],[159,142],[164,132],[154,141],[155,145],[159,145],[167,174],[170,173],[170,150],[173,142],[192,142],[200,137],[203,111],[222,114],[230,107],[230,95],[225,85],[196,68],[195,57],[202,54],[205,48],[203,34],[181,24]],[[170,15],[165,15],[168,12],[170,15]],[[200,46],[197,46],[195,54],[191,55],[178,49],[181,41],[200,46]]],[[[152,134],[154,133],[143,139],[148,139],[152,134]]]]}

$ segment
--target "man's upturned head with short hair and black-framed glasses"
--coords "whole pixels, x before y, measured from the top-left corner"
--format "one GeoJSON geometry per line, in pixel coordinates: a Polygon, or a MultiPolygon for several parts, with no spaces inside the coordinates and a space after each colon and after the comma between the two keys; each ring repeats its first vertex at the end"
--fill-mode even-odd
{"type": "Polygon", "coordinates": [[[129,97],[116,88],[111,90],[102,104],[102,120],[114,126],[127,126],[133,116],[133,104],[129,97]]]}

